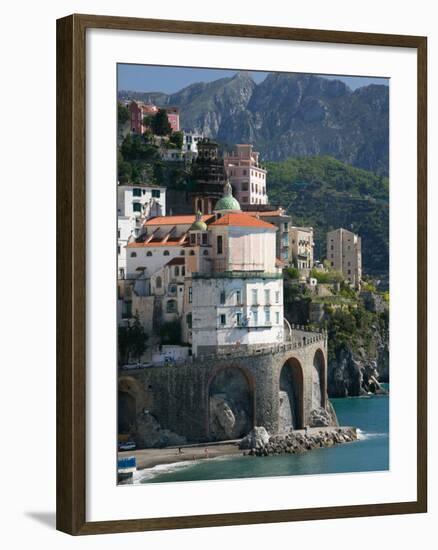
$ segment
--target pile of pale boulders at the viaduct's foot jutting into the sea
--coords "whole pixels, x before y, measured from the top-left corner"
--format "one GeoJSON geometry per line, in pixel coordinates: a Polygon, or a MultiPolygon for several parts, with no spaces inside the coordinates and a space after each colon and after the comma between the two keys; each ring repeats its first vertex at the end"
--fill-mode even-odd
{"type": "Polygon", "coordinates": [[[269,436],[264,428],[254,428],[240,442],[249,456],[299,454],[320,447],[333,447],[357,440],[356,428],[308,428],[269,436]]]}

